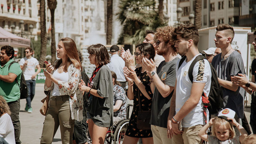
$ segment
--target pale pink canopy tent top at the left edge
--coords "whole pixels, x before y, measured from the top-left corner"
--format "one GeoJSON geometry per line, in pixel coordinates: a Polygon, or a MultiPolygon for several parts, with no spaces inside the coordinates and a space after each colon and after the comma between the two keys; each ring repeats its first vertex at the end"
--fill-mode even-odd
{"type": "Polygon", "coordinates": [[[16,36],[0,27],[0,47],[10,45],[12,47],[30,47],[30,39],[16,36]]]}

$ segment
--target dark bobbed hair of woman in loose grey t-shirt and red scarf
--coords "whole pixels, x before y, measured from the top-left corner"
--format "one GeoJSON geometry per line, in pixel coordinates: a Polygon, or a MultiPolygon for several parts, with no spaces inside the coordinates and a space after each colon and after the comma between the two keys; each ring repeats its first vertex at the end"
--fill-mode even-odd
{"type": "Polygon", "coordinates": [[[96,63],[99,65],[106,65],[110,62],[108,50],[103,44],[92,44],[87,48],[87,52],[96,55],[96,63]]]}

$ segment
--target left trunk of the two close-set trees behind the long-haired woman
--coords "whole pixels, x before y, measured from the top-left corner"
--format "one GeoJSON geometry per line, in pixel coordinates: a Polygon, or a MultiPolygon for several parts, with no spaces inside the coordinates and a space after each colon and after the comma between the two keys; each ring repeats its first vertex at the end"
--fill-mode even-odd
{"type": "Polygon", "coordinates": [[[41,29],[41,51],[40,51],[40,60],[39,64],[40,67],[44,67],[44,61],[45,61],[45,56],[46,56],[46,43],[47,43],[47,38],[46,38],[46,24],[45,24],[45,1],[40,0],[40,29],[41,29]]]}

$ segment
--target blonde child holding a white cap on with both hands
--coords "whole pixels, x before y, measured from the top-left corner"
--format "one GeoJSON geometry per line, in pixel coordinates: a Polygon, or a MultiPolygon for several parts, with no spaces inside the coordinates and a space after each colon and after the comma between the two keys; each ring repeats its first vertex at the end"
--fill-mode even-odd
{"type": "Polygon", "coordinates": [[[236,122],[234,116],[235,112],[233,110],[225,108],[220,111],[218,117],[210,119],[209,123],[204,125],[198,133],[199,137],[209,142],[209,144],[240,144],[248,134],[245,129],[236,122]],[[235,125],[241,133],[240,136],[236,136],[233,125],[235,125]],[[212,135],[207,135],[206,130],[211,126],[212,135]]]}

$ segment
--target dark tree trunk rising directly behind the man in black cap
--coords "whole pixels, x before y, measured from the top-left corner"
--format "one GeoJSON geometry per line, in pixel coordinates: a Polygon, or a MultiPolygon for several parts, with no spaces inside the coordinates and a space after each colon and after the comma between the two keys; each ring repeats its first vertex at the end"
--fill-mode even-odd
{"type": "Polygon", "coordinates": [[[113,20],[113,0],[107,1],[107,44],[111,44],[112,39],[112,20],[113,20]]]}

